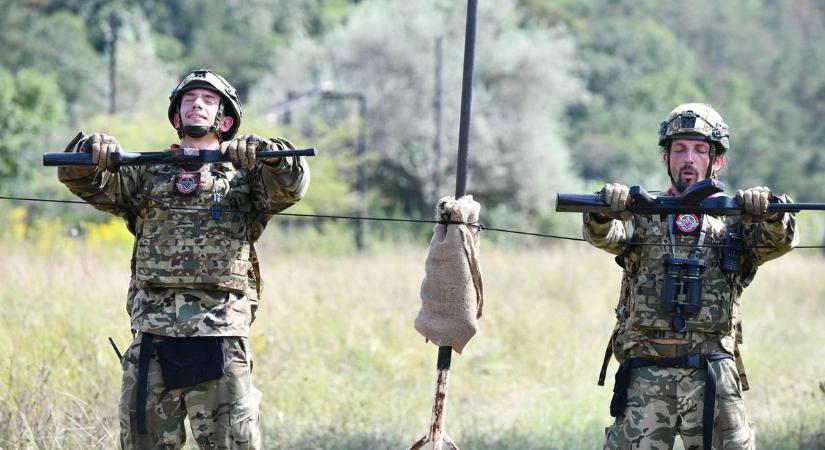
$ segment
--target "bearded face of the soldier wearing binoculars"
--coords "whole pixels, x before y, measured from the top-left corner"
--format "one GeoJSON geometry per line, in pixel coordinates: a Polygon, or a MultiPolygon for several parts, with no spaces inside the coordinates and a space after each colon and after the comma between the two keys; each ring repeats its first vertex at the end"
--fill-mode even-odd
{"type": "MultiPolygon", "coordinates": [[[[675,188],[682,192],[686,187],[705,178],[710,164],[710,144],[705,141],[674,139],[670,144],[670,157],[664,157],[664,163],[670,164],[675,188]]],[[[713,172],[725,164],[725,155],[716,155],[713,172]]]]}

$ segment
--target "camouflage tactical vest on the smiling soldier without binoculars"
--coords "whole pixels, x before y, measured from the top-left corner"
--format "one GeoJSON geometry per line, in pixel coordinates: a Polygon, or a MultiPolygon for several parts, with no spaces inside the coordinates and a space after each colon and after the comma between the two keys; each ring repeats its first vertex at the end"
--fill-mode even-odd
{"type": "Polygon", "coordinates": [[[219,164],[147,168],[134,258],[141,288],[246,292],[251,243],[241,211],[250,211],[250,186],[240,175],[219,164]]]}

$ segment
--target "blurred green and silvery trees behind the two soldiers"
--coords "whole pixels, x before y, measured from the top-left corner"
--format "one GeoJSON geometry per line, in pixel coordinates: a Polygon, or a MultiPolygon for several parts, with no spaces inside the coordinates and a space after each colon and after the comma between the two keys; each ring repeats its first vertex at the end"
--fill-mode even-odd
{"type": "MultiPolygon", "coordinates": [[[[825,3],[506,0],[479,8],[469,187],[497,217],[552,226],[553,191],[606,181],[666,186],[656,131],[687,101],[713,104],[729,123],[722,178],[731,187],[825,197],[825,3]]],[[[74,128],[100,123],[151,134],[139,124],[154,115],[165,124],[178,77],[208,67],[239,88],[248,117],[324,83],[365,95],[363,122],[355,102],[314,98],[287,130],[331,143],[351,190],[365,164],[374,208],[429,215],[452,193],[464,2],[0,0],[0,10],[5,175],[22,175],[20,158],[30,157],[12,144],[18,137],[68,140],[74,128]],[[109,106],[112,18],[119,114],[100,118],[109,106]],[[368,153],[357,159],[362,125],[368,153]]],[[[146,145],[158,136],[146,135],[146,145]]]]}

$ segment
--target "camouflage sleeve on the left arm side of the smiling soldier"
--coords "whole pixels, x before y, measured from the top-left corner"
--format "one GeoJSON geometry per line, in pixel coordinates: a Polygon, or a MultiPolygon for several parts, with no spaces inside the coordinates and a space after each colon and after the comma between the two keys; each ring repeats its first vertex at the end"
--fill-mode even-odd
{"type": "MultiPolygon", "coordinates": [[[[64,151],[82,151],[87,139],[78,133],[64,151]]],[[[134,205],[140,171],[138,167],[121,167],[117,173],[101,172],[97,167],[60,167],[57,178],[96,209],[126,218],[134,205]]]]}

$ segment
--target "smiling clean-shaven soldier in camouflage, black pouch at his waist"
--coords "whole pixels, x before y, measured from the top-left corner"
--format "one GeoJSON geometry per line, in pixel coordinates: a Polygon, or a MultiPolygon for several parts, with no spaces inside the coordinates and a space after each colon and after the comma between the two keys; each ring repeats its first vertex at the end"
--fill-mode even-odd
{"type": "Polygon", "coordinates": [[[220,148],[232,164],[117,167],[114,137],[81,133],[66,151],[90,152],[97,166],[58,172],[135,235],[121,445],[180,448],[188,416],[200,448],[257,449],[261,394],[248,339],[261,289],[254,243],[272,214],[303,197],[309,167],[303,157],[256,159],[259,150],[293,148],[286,139],[234,138],[236,91],[208,70],[172,91],[168,117],[181,138],[173,148],[220,148]]]}

